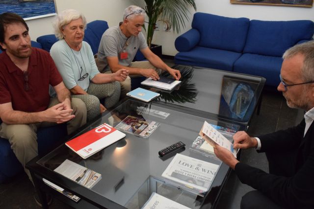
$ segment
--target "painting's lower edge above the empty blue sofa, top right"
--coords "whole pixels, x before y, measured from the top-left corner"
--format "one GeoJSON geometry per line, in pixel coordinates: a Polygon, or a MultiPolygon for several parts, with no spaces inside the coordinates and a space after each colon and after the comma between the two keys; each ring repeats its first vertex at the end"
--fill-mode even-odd
{"type": "Polygon", "coordinates": [[[230,0],[230,2],[239,4],[265,4],[280,6],[313,6],[313,0],[230,0]]]}

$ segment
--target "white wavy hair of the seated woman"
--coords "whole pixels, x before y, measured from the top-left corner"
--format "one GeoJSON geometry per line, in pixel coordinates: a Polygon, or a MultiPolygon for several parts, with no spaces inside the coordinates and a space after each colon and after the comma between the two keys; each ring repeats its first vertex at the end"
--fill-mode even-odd
{"type": "Polygon", "coordinates": [[[86,28],[86,18],[84,17],[84,15],[80,12],[78,12],[75,9],[66,9],[62,12],[60,12],[54,22],[53,22],[53,29],[54,29],[54,34],[55,36],[61,40],[64,38],[61,29],[71,23],[71,21],[74,20],[78,20],[79,18],[81,18],[83,20],[83,25],[84,25],[84,29],[86,28]]]}

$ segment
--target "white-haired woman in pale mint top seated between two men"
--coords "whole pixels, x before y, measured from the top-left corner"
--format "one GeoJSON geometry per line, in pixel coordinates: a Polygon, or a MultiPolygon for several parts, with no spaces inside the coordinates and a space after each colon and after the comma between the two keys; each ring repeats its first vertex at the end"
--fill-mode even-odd
{"type": "Polygon", "coordinates": [[[86,104],[87,120],[91,120],[105,108],[113,107],[120,98],[121,87],[129,70],[120,69],[111,74],[100,73],[88,43],[83,41],[85,17],[74,9],[57,15],[54,22],[55,36],[50,53],[71,96],[86,104]],[[105,107],[99,99],[105,98],[105,107]]]}

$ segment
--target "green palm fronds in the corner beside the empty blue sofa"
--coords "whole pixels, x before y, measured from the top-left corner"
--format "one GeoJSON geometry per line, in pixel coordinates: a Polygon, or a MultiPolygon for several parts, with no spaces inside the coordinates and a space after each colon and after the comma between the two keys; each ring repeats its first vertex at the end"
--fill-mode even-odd
{"type": "Polygon", "coordinates": [[[185,27],[185,20],[189,20],[188,8],[196,10],[195,0],[145,0],[145,12],[148,16],[148,26],[145,28],[147,45],[151,47],[157,21],[170,24],[174,31],[180,33],[185,27]]]}

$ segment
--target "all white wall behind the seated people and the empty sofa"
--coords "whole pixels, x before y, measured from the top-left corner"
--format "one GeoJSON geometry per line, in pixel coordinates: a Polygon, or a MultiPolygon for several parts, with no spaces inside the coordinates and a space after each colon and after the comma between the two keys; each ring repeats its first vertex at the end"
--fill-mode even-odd
{"type": "MultiPolygon", "coordinates": [[[[296,6],[266,6],[231,4],[230,0],[195,0],[197,11],[221,15],[226,17],[246,17],[256,20],[312,20],[314,21],[314,7],[296,6]]],[[[77,9],[81,11],[87,22],[105,20],[109,27],[118,24],[122,19],[123,10],[130,4],[143,6],[143,0],[56,0],[57,11],[64,9],[77,9]]],[[[187,31],[191,28],[194,11],[191,10],[190,21],[186,23],[187,31]]],[[[38,36],[52,34],[52,21],[54,17],[47,17],[26,21],[32,40],[38,36]]],[[[162,45],[162,53],[174,56],[177,53],[174,42],[178,34],[173,32],[156,31],[153,43],[162,45]]]]}

